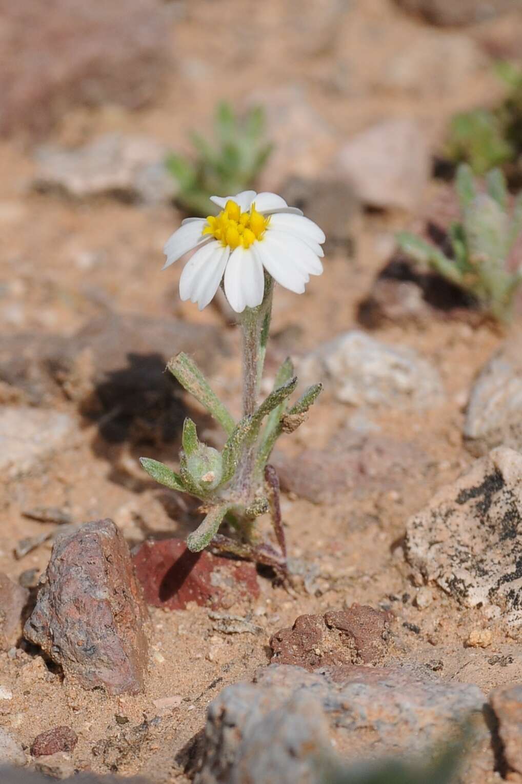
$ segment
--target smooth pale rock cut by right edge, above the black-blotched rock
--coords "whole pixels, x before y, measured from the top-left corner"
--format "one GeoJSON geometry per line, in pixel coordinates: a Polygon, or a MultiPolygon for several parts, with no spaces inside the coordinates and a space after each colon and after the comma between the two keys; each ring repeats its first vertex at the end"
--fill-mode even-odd
{"type": "Polygon", "coordinates": [[[501,444],[522,448],[522,357],[517,339],[505,343],[473,383],[463,434],[475,456],[501,444]]]}

